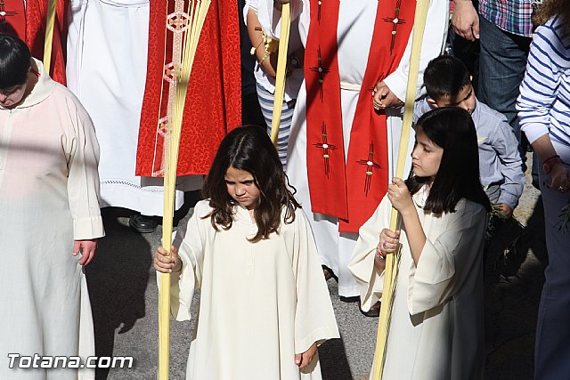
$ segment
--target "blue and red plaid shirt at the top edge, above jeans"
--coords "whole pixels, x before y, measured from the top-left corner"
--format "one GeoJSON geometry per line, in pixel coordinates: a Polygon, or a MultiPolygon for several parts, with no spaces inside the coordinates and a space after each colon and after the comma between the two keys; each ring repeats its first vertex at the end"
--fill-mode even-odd
{"type": "Polygon", "coordinates": [[[480,0],[479,14],[497,27],[518,36],[533,36],[533,8],[542,0],[480,0]]]}

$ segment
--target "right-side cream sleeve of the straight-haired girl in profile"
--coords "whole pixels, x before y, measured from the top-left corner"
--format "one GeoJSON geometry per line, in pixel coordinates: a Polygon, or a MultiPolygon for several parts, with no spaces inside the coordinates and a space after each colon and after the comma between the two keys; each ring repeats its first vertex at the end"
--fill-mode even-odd
{"type": "Polygon", "coordinates": [[[435,239],[428,236],[418,265],[411,265],[408,286],[411,315],[428,311],[457,295],[468,274],[482,264],[485,208],[461,200],[455,213],[442,217],[449,218],[443,233],[435,239]]]}

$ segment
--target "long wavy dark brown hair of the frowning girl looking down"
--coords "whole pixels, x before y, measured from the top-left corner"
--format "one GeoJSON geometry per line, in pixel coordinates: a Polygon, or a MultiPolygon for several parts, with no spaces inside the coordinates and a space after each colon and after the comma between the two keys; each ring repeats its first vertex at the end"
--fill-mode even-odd
{"type": "Polygon", "coordinates": [[[279,232],[283,207],[286,208],[283,222],[295,220],[295,210],[300,206],[288,189],[277,150],[264,128],[245,125],[224,137],[202,187],[203,197],[209,198],[213,208],[205,218],[211,218],[216,230],[218,226],[224,230],[232,228],[232,208],[236,201],[228,194],[224,179],[231,166],[252,174],[260,192],[259,204],[254,210],[257,233],[249,241],[256,243],[269,239],[272,232],[279,232]]]}

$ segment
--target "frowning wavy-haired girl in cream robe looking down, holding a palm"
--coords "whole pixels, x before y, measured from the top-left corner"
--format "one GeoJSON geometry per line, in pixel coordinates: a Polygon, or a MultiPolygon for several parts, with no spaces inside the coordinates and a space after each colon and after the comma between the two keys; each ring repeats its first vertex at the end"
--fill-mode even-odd
{"type": "Polygon", "coordinates": [[[338,337],[305,214],[262,128],[224,138],[185,231],[157,271],[171,272],[172,313],[190,319],[188,379],[320,379],[317,344],[338,337]]]}

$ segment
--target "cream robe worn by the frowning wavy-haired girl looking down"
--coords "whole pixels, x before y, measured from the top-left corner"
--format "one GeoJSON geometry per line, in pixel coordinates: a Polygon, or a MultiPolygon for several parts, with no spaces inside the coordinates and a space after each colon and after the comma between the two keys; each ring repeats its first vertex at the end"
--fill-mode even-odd
{"type": "Polygon", "coordinates": [[[257,243],[248,210],[235,206],[230,230],[216,231],[211,208],[200,201],[175,239],[183,270],[172,276],[176,319],[190,319],[200,289],[198,327],[191,342],[187,379],[321,379],[315,360],[303,374],[295,354],[314,342],[338,338],[329,290],[314,238],[302,210],[280,234],[257,243]],[[182,239],[182,243],[180,240],[182,239]]]}

